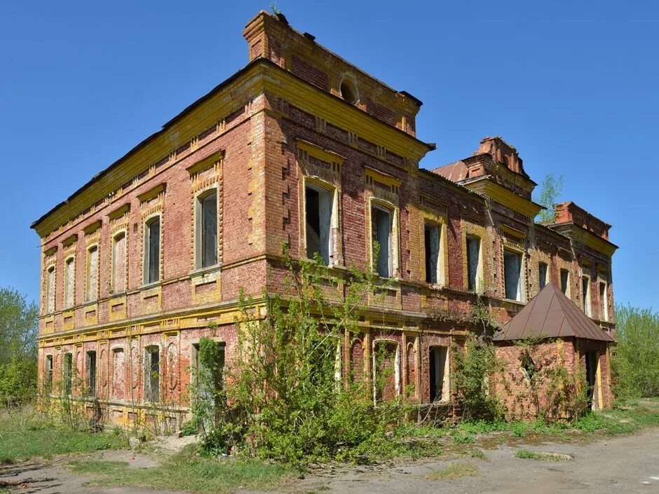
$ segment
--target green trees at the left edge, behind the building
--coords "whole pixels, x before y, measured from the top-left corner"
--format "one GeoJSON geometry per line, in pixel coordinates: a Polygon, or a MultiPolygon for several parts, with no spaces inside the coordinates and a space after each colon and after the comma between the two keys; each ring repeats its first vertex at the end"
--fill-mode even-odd
{"type": "Polygon", "coordinates": [[[0,288],[0,405],[15,406],[36,391],[38,309],[25,295],[0,288]]]}

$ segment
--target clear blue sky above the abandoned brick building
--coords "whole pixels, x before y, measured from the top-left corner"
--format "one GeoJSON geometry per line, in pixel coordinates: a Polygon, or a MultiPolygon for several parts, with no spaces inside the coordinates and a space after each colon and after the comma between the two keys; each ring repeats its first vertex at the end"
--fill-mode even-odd
{"type": "MultiPolygon", "coordinates": [[[[613,224],[616,301],[659,308],[659,5],[277,2],[291,24],[423,101],[421,163],[501,135],[540,183],[613,224]]],[[[29,224],[247,63],[269,1],[11,2],[0,29],[0,286],[36,299],[29,224]]]]}

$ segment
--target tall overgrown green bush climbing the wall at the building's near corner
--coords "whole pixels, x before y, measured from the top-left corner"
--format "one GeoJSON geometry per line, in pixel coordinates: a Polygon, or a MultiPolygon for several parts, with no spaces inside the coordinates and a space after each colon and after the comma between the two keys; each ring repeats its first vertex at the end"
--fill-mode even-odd
{"type": "MultiPolygon", "coordinates": [[[[376,291],[372,275],[356,269],[337,274],[320,258],[294,261],[285,254],[284,296],[264,294],[256,301],[240,293],[236,357],[215,380],[229,382],[226,391],[198,392],[203,450],[243,451],[294,465],[391,454],[388,432],[408,411],[400,399],[374,404],[369,380],[353,379],[341,357],[341,348],[360,337],[360,313],[376,291]]],[[[387,357],[381,350],[375,365],[387,357]]],[[[386,376],[381,372],[372,383],[375,396],[386,376]]]]}

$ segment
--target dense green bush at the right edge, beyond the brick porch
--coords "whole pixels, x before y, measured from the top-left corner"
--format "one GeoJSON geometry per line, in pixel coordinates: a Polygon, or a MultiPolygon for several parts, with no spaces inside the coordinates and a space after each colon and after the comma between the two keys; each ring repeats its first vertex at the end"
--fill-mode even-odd
{"type": "Polygon", "coordinates": [[[659,313],[632,306],[616,308],[618,344],[613,378],[618,397],[659,395],[659,313]]]}

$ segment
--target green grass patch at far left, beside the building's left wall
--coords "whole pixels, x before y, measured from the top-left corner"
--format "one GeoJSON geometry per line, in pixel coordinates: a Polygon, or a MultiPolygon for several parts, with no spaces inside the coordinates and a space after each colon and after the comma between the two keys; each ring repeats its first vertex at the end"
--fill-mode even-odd
{"type": "Polygon", "coordinates": [[[89,453],[128,446],[121,435],[68,430],[26,411],[0,415],[0,444],[0,465],[35,457],[51,458],[62,453],[89,453]]]}

